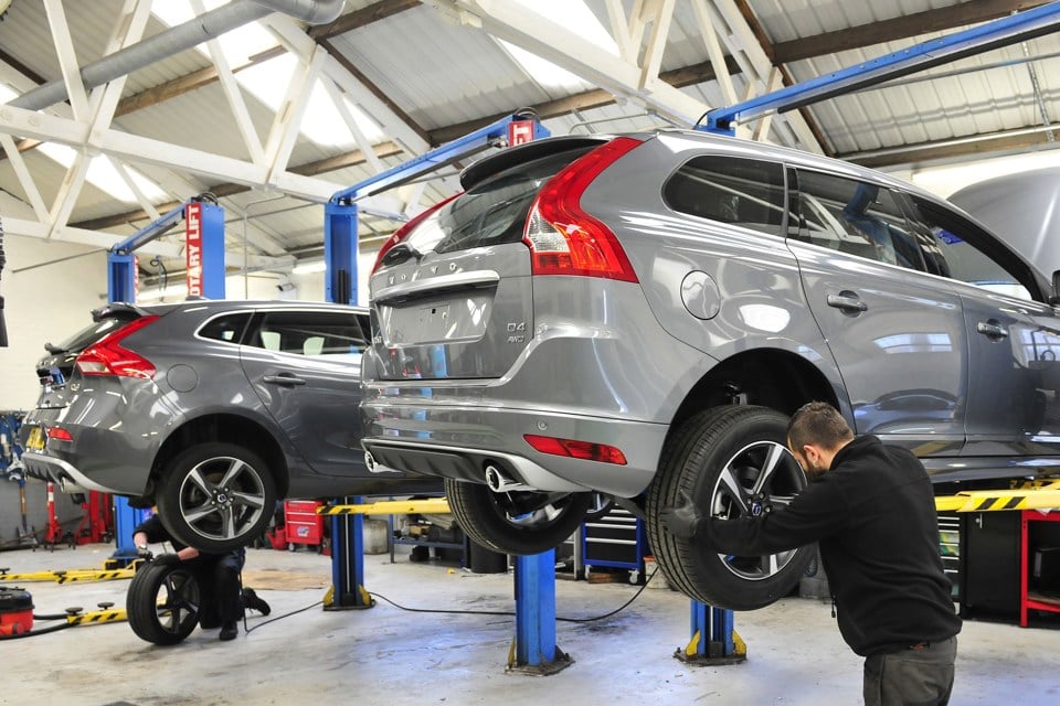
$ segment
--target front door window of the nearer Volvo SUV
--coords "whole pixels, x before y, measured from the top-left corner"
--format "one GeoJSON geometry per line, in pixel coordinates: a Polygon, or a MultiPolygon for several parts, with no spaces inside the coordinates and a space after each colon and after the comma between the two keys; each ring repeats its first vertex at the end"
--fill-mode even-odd
{"type": "Polygon", "coordinates": [[[957,213],[911,197],[910,218],[929,271],[1019,299],[1034,299],[1026,267],[994,236],[957,213]]]}

